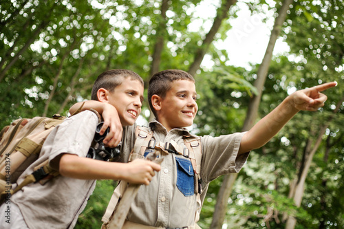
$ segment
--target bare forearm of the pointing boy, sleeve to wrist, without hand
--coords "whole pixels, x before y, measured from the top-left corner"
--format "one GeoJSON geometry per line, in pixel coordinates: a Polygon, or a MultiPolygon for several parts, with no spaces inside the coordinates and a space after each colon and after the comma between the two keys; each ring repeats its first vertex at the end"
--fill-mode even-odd
{"type": "Polygon", "coordinates": [[[264,146],[299,112],[299,109],[296,109],[290,100],[291,98],[288,96],[243,136],[239,153],[246,153],[264,146]]]}

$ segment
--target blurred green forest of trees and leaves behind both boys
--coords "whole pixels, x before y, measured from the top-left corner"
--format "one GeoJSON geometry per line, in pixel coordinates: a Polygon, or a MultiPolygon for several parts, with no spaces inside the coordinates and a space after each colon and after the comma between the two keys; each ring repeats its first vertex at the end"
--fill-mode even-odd
{"type": "MultiPolygon", "coordinates": [[[[1,127],[67,116],[106,69],[131,69],[145,87],[160,70],[190,72],[199,94],[193,132],[213,136],[245,131],[293,91],[336,80],[325,107],[298,113],[239,174],[211,182],[199,225],[344,228],[343,0],[217,0],[200,17],[202,2],[1,1],[1,127]],[[246,68],[229,64],[224,42],[239,4],[275,21],[263,61],[246,68]],[[277,39],[290,50],[273,55],[277,39]]],[[[142,118],[149,115],[145,101],[142,118]]],[[[115,185],[98,182],[76,228],[100,228],[115,185]]]]}

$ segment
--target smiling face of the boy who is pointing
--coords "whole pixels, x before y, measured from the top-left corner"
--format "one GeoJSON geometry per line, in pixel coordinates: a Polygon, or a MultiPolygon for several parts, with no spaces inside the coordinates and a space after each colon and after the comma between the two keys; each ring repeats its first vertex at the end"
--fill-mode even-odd
{"type": "Polygon", "coordinates": [[[174,80],[164,98],[153,95],[152,104],[158,121],[170,131],[190,127],[197,113],[195,83],[191,80],[174,80]]]}

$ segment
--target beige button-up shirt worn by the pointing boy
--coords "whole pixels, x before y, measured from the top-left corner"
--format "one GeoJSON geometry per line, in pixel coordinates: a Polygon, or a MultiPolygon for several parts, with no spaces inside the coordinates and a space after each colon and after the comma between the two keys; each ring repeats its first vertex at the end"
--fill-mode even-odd
{"type": "MultiPolygon", "coordinates": [[[[174,140],[184,145],[182,136],[190,135],[186,129],[172,129],[169,133],[162,125],[153,121],[149,124],[154,130],[153,138],[157,142],[174,140]]],[[[124,129],[122,160],[127,162],[129,153],[135,142],[135,127],[124,129]]],[[[201,178],[203,193],[202,203],[208,183],[219,175],[238,173],[247,160],[249,153],[237,156],[240,141],[244,133],[234,133],[213,138],[209,135],[201,137],[202,162],[201,178]]],[[[195,223],[196,195],[185,196],[177,186],[178,162],[176,157],[185,159],[174,153],[160,155],[164,158],[161,171],[156,173],[149,186],[141,186],[138,195],[131,204],[127,216],[129,221],[149,226],[180,228],[195,223]]]]}

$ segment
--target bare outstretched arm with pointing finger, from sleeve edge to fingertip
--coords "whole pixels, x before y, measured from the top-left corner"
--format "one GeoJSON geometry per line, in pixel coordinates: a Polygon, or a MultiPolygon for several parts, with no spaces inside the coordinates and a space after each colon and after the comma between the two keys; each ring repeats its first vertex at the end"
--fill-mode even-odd
{"type": "Polygon", "coordinates": [[[316,111],[319,107],[323,107],[327,96],[321,91],[335,86],[336,82],[331,82],[295,91],[245,133],[241,140],[239,153],[246,153],[264,146],[297,112],[316,111]]]}

